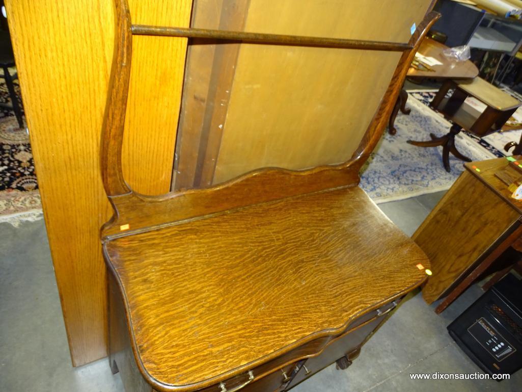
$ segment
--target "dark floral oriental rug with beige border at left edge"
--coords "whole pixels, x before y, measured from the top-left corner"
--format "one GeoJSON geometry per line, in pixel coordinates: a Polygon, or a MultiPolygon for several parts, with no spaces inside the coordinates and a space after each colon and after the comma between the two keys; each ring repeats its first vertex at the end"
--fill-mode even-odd
{"type": "MultiPolygon", "coordinates": [[[[9,102],[5,83],[0,101],[9,102]]],[[[17,226],[42,217],[29,135],[8,109],[0,109],[0,179],[0,222],[17,226]]]]}

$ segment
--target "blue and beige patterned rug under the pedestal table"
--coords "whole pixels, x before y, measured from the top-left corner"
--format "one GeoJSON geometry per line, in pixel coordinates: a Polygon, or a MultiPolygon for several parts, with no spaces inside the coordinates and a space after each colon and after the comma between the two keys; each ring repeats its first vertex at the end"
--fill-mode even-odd
{"type": "MultiPolygon", "coordinates": [[[[361,173],[361,187],[376,203],[407,199],[449,189],[464,170],[463,162],[450,155],[451,172],[442,166],[442,147],[422,148],[407,140],[430,140],[430,132],[444,135],[450,122],[427,104],[433,92],[409,91],[409,116],[399,112],[395,120],[397,134],[385,132],[361,173]]],[[[522,131],[494,133],[483,139],[461,132],[455,143],[472,160],[508,155],[503,150],[509,141],[518,142],[522,131]]]]}

